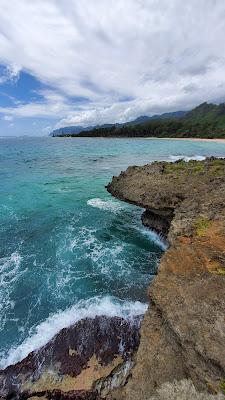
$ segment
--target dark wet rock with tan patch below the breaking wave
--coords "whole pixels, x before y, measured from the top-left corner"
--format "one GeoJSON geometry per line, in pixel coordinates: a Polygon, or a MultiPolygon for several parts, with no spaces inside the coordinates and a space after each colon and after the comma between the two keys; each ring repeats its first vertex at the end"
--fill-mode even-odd
{"type": "Polygon", "coordinates": [[[100,399],[99,393],[107,394],[129,373],[139,326],[139,317],[95,317],[61,330],[46,346],[0,371],[0,396],[100,399]]]}

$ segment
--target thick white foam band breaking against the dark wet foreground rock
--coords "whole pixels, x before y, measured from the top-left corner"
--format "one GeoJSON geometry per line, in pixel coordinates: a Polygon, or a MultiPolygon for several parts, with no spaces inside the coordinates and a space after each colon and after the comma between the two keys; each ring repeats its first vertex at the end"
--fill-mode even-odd
{"type": "Polygon", "coordinates": [[[31,351],[44,346],[61,329],[71,326],[83,318],[105,315],[132,319],[134,316],[143,315],[146,309],[147,304],[140,301],[119,300],[111,296],[81,300],[65,311],[50,315],[36,326],[23,343],[16,348],[11,348],[7,356],[0,360],[0,368],[6,368],[8,365],[21,361],[31,351]]]}

